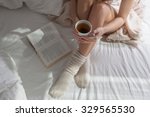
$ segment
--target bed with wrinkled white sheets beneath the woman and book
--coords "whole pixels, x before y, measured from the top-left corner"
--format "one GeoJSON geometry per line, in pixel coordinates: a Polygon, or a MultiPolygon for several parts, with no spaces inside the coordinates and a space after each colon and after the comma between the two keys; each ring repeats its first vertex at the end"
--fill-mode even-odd
{"type": "MultiPolygon", "coordinates": [[[[106,99],[150,99],[150,15],[148,0],[144,1],[144,21],[142,25],[142,42],[134,48],[123,43],[97,42],[86,63],[91,77],[89,86],[80,89],[72,82],[72,87],[60,98],[61,100],[106,100],[106,99]]],[[[68,57],[46,68],[26,35],[50,22],[47,15],[29,9],[26,5],[17,9],[0,7],[0,60],[5,66],[12,62],[17,68],[15,82],[5,86],[0,80],[0,99],[52,100],[49,88],[63,70],[68,57]],[[4,54],[7,53],[7,54],[4,54]],[[8,56],[7,56],[8,55],[8,56]],[[8,60],[7,62],[5,59],[8,60]],[[7,88],[4,88],[7,87],[7,88]],[[6,90],[7,89],[7,90],[6,90]]],[[[71,28],[56,24],[66,38],[72,40],[71,28]]],[[[7,69],[6,69],[7,70],[7,69]]],[[[6,71],[5,70],[5,71],[6,71]]],[[[5,81],[10,80],[9,71],[5,81]]],[[[0,72],[1,73],[1,72],[0,72]]],[[[4,74],[0,74],[0,79],[4,74]]],[[[5,74],[6,75],[6,74],[5,74]]]]}

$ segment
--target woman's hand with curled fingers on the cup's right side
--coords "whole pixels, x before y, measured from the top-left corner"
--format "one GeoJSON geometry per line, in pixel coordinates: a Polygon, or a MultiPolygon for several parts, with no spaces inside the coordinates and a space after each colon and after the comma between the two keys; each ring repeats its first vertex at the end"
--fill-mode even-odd
{"type": "Polygon", "coordinates": [[[103,27],[98,27],[98,28],[96,28],[96,29],[93,31],[93,35],[94,35],[96,38],[100,38],[100,37],[102,37],[104,34],[105,34],[105,30],[104,30],[103,27]]]}

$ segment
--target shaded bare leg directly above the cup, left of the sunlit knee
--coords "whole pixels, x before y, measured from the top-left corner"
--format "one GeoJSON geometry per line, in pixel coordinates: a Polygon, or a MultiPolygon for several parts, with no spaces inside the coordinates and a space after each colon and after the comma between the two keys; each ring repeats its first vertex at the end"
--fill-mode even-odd
{"type": "Polygon", "coordinates": [[[95,0],[77,0],[77,15],[79,19],[88,19],[95,0]]]}

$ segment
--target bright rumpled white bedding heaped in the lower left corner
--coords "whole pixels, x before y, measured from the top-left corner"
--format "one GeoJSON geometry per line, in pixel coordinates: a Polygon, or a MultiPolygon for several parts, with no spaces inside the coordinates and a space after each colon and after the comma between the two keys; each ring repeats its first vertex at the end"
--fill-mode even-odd
{"type": "Polygon", "coordinates": [[[27,99],[14,61],[0,52],[0,99],[27,99]]]}

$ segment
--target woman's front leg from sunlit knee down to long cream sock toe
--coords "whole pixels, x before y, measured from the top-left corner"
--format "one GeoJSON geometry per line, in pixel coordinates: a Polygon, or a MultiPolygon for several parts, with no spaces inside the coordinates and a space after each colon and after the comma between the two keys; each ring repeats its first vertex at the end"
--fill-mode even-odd
{"type": "MultiPolygon", "coordinates": [[[[82,1],[85,2],[85,1],[91,1],[91,0],[82,0],[82,1]]],[[[100,24],[103,24],[104,21],[107,19],[106,16],[108,15],[108,13],[110,13],[107,10],[108,10],[108,6],[106,4],[93,5],[92,11],[90,12],[88,19],[92,23],[94,28],[96,28],[96,26],[100,26],[100,24]],[[104,16],[102,16],[101,13],[103,13],[102,15],[104,15],[104,16]],[[97,15],[100,17],[97,17],[97,15]],[[96,18],[96,20],[95,20],[95,18],[96,18]],[[99,18],[100,18],[100,20],[99,20],[99,18]]],[[[78,15],[80,16],[80,14],[78,14],[78,15]]],[[[84,17],[87,17],[87,16],[84,16],[84,17]]],[[[79,71],[79,68],[86,61],[86,58],[87,58],[86,56],[88,56],[88,54],[91,52],[94,45],[95,45],[95,43],[90,43],[90,44],[80,43],[79,44],[79,50],[75,51],[75,53],[73,53],[70,61],[68,62],[67,66],[64,69],[64,71],[62,72],[62,74],[60,75],[59,79],[56,81],[56,83],[50,89],[49,93],[51,96],[60,97],[61,95],[64,94],[64,92],[69,88],[70,83],[73,80],[74,76],[79,71]]]]}

